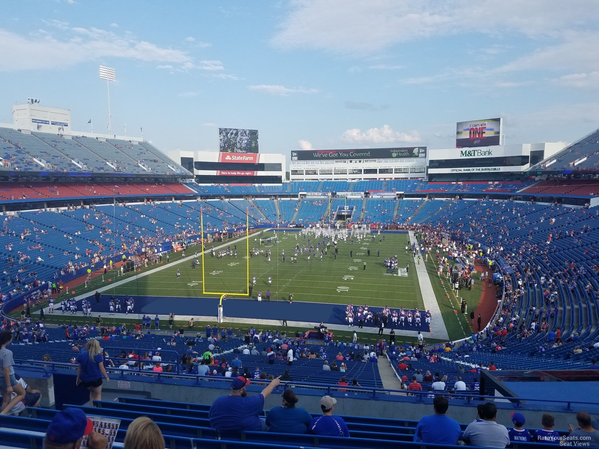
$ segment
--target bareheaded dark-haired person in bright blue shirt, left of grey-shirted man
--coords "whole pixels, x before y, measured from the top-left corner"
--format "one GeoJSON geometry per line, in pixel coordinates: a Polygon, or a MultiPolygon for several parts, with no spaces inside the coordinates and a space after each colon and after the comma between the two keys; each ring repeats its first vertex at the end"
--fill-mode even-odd
{"type": "Polygon", "coordinates": [[[458,421],[448,418],[446,415],[449,408],[447,398],[441,395],[435,396],[432,400],[432,408],[435,412],[434,415],[420,418],[414,431],[414,441],[429,444],[457,444],[462,430],[458,421]]]}

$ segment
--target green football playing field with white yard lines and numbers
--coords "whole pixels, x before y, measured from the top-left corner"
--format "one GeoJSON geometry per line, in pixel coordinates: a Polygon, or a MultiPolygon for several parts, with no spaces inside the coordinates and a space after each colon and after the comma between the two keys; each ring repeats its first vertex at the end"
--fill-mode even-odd
{"type": "MultiPolygon", "coordinates": [[[[201,297],[216,296],[216,293],[247,293],[247,276],[249,263],[249,281],[253,286],[252,298],[262,292],[265,298],[270,290],[271,301],[286,301],[289,293],[294,293],[294,301],[327,302],[333,304],[373,305],[391,309],[424,308],[418,277],[413,269],[413,257],[406,253],[408,244],[407,234],[386,234],[374,236],[365,235],[360,241],[356,237],[353,243],[350,238],[346,241],[337,241],[338,254],[334,255],[334,243],[323,254],[320,260],[320,250],[325,247],[319,242],[323,238],[316,238],[299,232],[277,232],[277,239],[273,231],[265,231],[264,235],[258,233],[250,236],[249,248],[259,251],[258,256],[248,257],[245,240],[231,242],[231,250],[237,245],[237,257],[210,256],[210,249],[219,247],[220,243],[207,244],[204,256],[204,274],[202,276],[201,247],[198,247],[198,260],[196,268],[192,266],[195,259],[195,247],[187,248],[186,259],[181,263],[173,264],[179,260],[180,253],[171,254],[172,266],[167,266],[160,271],[144,277],[131,276],[131,280],[120,286],[110,289],[114,295],[131,296],[163,296],[163,297],[201,297]],[[262,237],[264,242],[259,243],[262,237]],[[296,238],[297,237],[297,238],[296,238]],[[270,243],[268,239],[270,238],[270,243]],[[295,246],[299,245],[302,252],[298,253],[297,262],[292,263],[295,246]],[[305,246],[314,246],[313,251],[305,251],[305,246]],[[267,252],[271,252],[268,262],[267,252]],[[370,256],[368,251],[370,250],[370,256]],[[283,251],[285,262],[283,262],[283,251]],[[388,271],[384,266],[385,257],[397,255],[400,270],[388,271]],[[308,260],[308,256],[310,260],[308,260]],[[366,262],[366,269],[364,269],[366,262]],[[406,263],[410,269],[406,272],[406,263]],[[177,278],[177,269],[180,277],[177,278]],[[271,284],[268,284],[271,277],[271,284]],[[203,287],[203,288],[202,288],[203,287]]],[[[228,246],[228,245],[226,245],[228,246]]],[[[222,248],[221,248],[222,250],[222,248]]],[[[164,258],[163,258],[164,259],[164,258]]],[[[120,280],[116,278],[115,280],[120,280]]],[[[107,285],[104,283],[104,285],[107,285]]],[[[108,293],[108,292],[105,292],[108,293]]]]}

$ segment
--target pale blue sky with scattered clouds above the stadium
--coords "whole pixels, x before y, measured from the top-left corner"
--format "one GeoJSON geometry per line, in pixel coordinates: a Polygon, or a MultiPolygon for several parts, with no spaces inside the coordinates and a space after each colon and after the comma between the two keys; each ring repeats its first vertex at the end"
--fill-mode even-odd
{"type": "Polygon", "coordinates": [[[4,0],[0,122],[28,97],[72,129],[261,153],[455,146],[455,123],[503,117],[507,144],[599,127],[597,0],[4,0]]]}

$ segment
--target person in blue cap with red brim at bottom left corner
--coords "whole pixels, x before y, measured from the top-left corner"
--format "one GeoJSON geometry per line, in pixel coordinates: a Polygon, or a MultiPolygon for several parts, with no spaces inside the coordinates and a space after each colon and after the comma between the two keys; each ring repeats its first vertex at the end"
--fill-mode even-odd
{"type": "Polygon", "coordinates": [[[93,430],[93,423],[83,410],[65,408],[50,421],[44,436],[44,449],[78,449],[85,435],[89,449],[106,449],[107,438],[93,430]]]}

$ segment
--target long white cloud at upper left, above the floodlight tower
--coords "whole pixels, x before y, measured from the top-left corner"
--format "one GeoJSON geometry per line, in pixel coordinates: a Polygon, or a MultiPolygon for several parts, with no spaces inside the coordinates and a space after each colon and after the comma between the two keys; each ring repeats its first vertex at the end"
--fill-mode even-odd
{"type": "Polygon", "coordinates": [[[132,35],[116,35],[98,28],[71,28],[70,37],[23,37],[0,29],[0,71],[63,69],[89,59],[122,57],[146,62],[193,63],[186,52],[163,48],[132,35]],[[31,57],[35,54],[35,57],[31,57]]]}

